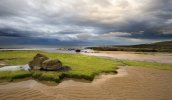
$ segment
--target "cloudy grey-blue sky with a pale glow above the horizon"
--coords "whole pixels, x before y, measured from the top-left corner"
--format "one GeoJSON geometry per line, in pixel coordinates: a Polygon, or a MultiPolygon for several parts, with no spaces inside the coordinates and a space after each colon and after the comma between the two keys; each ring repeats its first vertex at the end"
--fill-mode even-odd
{"type": "Polygon", "coordinates": [[[1,0],[0,47],[172,40],[172,0],[1,0]]]}

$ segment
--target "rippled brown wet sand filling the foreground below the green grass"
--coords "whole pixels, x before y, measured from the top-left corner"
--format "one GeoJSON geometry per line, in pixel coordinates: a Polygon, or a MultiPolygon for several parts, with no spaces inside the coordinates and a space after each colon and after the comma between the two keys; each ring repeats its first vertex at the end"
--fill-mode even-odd
{"type": "Polygon", "coordinates": [[[120,67],[117,75],[92,82],[64,80],[48,86],[35,80],[0,85],[0,100],[171,100],[172,72],[120,67]]]}

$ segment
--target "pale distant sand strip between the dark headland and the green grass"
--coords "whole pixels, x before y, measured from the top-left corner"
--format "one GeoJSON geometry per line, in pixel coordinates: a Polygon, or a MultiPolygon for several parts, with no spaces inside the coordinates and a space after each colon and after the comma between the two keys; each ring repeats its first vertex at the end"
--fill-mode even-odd
{"type": "Polygon", "coordinates": [[[120,60],[172,63],[172,54],[163,54],[163,53],[137,54],[136,52],[125,52],[125,51],[100,51],[99,53],[83,53],[83,54],[90,56],[111,57],[120,60]]]}

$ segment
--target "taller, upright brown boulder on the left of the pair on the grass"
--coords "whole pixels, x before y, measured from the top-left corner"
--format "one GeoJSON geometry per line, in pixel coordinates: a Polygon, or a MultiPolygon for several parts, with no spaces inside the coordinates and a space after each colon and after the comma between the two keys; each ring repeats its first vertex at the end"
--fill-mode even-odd
{"type": "Polygon", "coordinates": [[[32,61],[29,62],[29,67],[32,70],[40,70],[42,69],[42,63],[49,59],[47,56],[43,54],[37,54],[32,61]]]}

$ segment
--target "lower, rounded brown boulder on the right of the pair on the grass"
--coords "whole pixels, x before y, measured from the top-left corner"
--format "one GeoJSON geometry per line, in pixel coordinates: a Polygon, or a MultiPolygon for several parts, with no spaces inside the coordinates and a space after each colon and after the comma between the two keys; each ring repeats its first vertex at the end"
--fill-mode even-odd
{"type": "Polygon", "coordinates": [[[47,71],[57,71],[62,69],[62,62],[59,59],[48,59],[42,63],[42,67],[47,71]]]}

